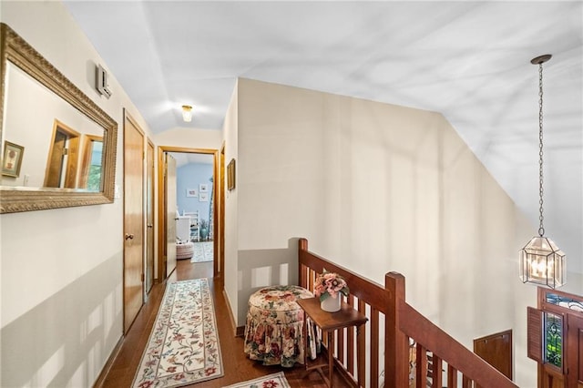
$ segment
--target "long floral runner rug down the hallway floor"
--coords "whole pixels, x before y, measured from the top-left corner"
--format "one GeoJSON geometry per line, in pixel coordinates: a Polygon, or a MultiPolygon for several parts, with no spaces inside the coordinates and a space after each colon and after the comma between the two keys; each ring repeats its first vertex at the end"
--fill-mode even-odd
{"type": "Polygon", "coordinates": [[[169,283],[132,387],[178,387],[222,375],[209,281],[169,283]]]}

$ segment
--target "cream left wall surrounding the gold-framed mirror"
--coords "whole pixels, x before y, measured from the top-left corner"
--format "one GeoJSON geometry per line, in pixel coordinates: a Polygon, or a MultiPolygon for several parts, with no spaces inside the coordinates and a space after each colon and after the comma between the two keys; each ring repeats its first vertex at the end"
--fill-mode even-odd
{"type": "MultiPolygon", "coordinates": [[[[124,108],[149,130],[113,74],[113,96],[97,94],[95,65],[107,64],[58,2],[3,1],[0,17],[118,123],[122,193],[124,108]]],[[[122,227],[121,198],[0,215],[1,386],[95,382],[123,330],[122,227]]]]}

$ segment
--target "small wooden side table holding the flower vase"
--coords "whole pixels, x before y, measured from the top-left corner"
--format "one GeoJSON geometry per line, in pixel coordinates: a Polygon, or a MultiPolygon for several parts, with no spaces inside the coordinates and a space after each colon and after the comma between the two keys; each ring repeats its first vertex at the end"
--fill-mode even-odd
{"type": "MultiPolygon", "coordinates": [[[[340,295],[339,295],[340,297],[340,295]]],[[[356,327],[356,339],[360,335],[360,326],[368,321],[365,315],[353,309],[348,303],[342,302],[340,311],[328,312],[323,311],[320,307],[319,298],[308,298],[298,300],[297,303],[302,307],[306,314],[303,320],[303,338],[304,338],[304,365],[306,371],[318,370],[324,379],[326,386],[333,385],[333,368],[334,368],[334,332],[345,327],[356,327]],[[326,363],[308,364],[308,317],[322,330],[322,336],[326,336],[328,347],[328,376],[322,373],[322,366],[326,363]]],[[[356,356],[360,360],[362,354],[360,353],[360,346],[357,346],[356,356]]]]}

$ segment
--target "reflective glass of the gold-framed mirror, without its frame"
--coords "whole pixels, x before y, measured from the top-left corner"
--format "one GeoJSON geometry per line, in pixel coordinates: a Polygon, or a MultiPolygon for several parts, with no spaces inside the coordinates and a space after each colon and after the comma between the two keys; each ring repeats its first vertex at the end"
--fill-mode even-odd
{"type": "Polygon", "coordinates": [[[100,191],[103,128],[12,63],[5,79],[4,138],[26,157],[2,185],[100,191]]]}

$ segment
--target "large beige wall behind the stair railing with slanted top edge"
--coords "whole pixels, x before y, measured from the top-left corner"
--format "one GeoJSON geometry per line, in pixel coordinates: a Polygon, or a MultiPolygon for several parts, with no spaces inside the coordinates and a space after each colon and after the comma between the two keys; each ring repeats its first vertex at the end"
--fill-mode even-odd
{"type": "Polygon", "coordinates": [[[470,349],[512,329],[516,381],[536,385],[536,288],[517,276],[534,228],[444,117],[249,79],[237,102],[239,325],[252,291],[297,276],[290,240],[306,237],[373,281],[403,273],[414,308],[470,349]]]}

